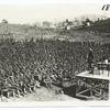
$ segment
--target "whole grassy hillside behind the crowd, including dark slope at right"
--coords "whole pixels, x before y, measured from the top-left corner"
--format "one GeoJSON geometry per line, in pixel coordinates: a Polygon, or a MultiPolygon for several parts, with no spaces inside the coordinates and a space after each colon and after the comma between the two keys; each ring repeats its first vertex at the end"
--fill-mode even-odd
{"type": "Polygon", "coordinates": [[[15,40],[24,38],[54,38],[62,41],[97,41],[110,42],[110,19],[96,22],[90,28],[79,30],[72,29],[65,31],[63,29],[43,29],[26,24],[3,24],[0,23],[0,37],[13,37],[15,40]],[[97,26],[96,26],[97,25],[97,26]],[[101,31],[102,30],[102,31],[101,31]],[[97,33],[96,33],[97,31],[97,33]],[[101,31],[101,33],[100,33],[101,31]]]}

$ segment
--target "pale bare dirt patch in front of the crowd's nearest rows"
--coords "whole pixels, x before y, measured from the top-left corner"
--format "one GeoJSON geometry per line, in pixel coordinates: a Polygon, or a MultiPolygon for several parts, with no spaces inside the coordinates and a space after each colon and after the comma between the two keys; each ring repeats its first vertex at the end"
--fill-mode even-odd
{"type": "Polygon", "coordinates": [[[55,90],[47,89],[45,87],[36,88],[35,92],[26,94],[24,97],[20,98],[10,97],[3,98],[1,101],[11,102],[11,101],[67,101],[67,100],[79,100],[73,97],[69,97],[64,94],[55,94],[55,90]]]}

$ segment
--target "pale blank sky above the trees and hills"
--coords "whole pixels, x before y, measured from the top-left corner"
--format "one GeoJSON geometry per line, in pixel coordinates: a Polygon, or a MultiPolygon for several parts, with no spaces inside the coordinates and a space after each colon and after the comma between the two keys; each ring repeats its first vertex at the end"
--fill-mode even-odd
{"type": "MultiPolygon", "coordinates": [[[[0,21],[34,23],[74,20],[81,15],[108,15],[101,11],[109,0],[0,0],[0,21]]],[[[110,4],[110,3],[109,3],[110,4]]]]}

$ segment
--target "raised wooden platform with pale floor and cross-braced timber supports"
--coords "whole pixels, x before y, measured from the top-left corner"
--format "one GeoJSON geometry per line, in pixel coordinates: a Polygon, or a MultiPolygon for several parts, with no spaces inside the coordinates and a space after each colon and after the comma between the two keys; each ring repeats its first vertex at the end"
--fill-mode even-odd
{"type": "Polygon", "coordinates": [[[88,70],[76,76],[76,96],[87,100],[109,100],[110,75],[109,70],[88,70]]]}

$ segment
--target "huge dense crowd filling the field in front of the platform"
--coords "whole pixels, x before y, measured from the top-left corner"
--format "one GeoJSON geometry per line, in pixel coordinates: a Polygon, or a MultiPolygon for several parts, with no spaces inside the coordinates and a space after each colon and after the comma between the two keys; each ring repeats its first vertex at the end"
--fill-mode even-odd
{"type": "Polygon", "coordinates": [[[110,57],[110,44],[53,40],[0,40],[0,94],[24,96],[41,86],[62,85],[87,69],[87,54],[92,48],[94,62],[110,57]]]}

